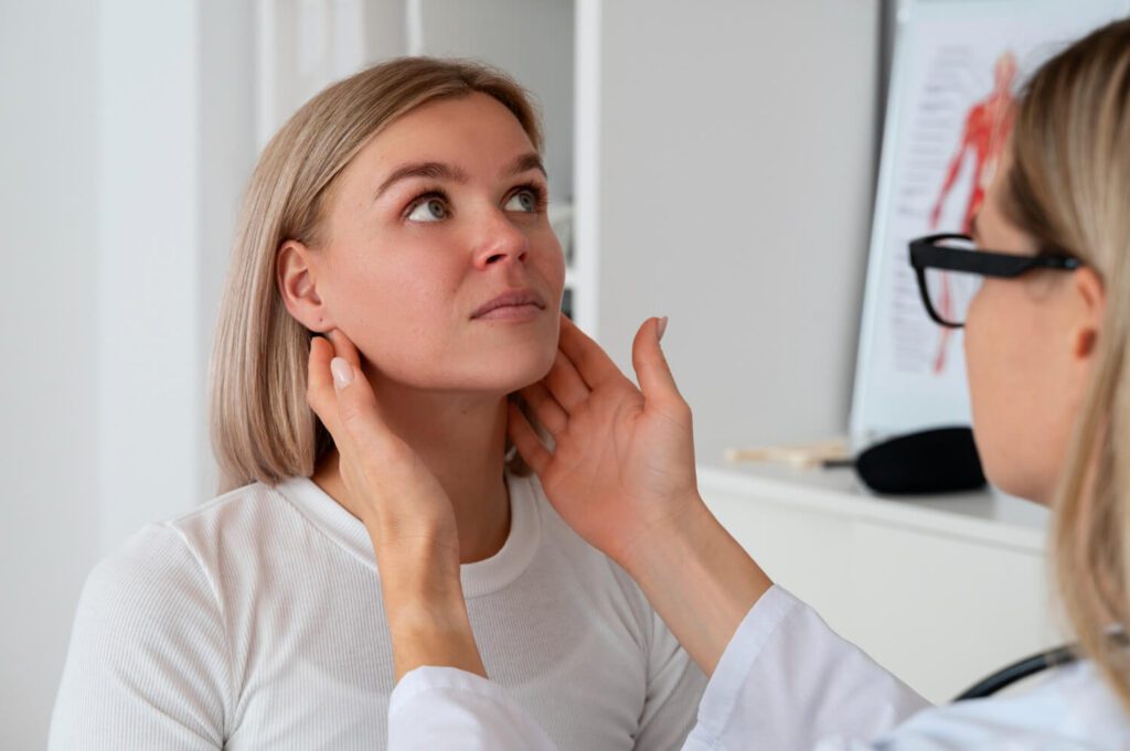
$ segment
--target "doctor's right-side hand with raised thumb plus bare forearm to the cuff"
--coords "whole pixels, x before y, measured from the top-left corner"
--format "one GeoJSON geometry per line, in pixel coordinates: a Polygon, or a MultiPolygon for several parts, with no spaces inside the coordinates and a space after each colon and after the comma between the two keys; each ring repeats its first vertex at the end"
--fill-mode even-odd
{"type": "Polygon", "coordinates": [[[557,359],[522,390],[554,440],[515,404],[508,431],[562,518],[624,567],[707,675],[772,582],[698,495],[690,408],[659,347],[666,320],[636,333],[640,388],[562,316],[557,359]]]}

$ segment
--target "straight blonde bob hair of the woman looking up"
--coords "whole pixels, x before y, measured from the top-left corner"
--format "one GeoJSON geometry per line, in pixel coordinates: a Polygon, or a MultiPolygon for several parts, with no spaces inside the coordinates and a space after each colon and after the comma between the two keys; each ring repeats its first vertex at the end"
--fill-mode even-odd
{"type": "Polygon", "coordinates": [[[333,84],[263,150],[244,197],[209,361],[220,494],[308,477],[333,447],[306,403],[312,334],[278,291],[280,245],[319,244],[334,178],[373,136],[423,104],[476,91],[505,105],[541,151],[538,115],[521,86],[479,63],[432,58],[392,60],[333,84]]]}

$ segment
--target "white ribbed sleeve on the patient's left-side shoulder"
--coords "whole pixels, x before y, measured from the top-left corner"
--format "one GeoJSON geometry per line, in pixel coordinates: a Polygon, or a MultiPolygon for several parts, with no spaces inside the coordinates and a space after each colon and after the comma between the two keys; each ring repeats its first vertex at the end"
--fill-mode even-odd
{"type": "Polygon", "coordinates": [[[226,645],[216,596],[180,533],[146,527],[82,587],[49,748],[220,749],[226,645]]]}

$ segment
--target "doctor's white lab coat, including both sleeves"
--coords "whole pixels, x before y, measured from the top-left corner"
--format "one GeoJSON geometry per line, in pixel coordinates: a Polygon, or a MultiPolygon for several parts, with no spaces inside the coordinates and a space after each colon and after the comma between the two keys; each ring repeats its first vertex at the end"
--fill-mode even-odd
{"type": "MultiPolygon", "coordinates": [[[[501,687],[449,667],[420,667],[397,685],[389,748],[555,751],[501,687]]],[[[1088,663],[1025,692],[931,707],[774,586],[734,632],[683,748],[1114,750],[1130,749],[1130,717],[1088,663]]]]}

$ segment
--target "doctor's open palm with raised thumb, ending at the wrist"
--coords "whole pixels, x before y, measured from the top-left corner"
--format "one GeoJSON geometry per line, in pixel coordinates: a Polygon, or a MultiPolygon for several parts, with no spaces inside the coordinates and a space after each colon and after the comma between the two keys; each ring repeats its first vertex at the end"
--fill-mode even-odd
{"type": "Polygon", "coordinates": [[[626,568],[652,532],[701,505],[690,408],[659,346],[666,323],[649,318],[636,333],[636,388],[562,316],[553,369],[521,392],[553,437],[553,451],[510,408],[511,440],[546,496],[581,536],[626,568]]]}

